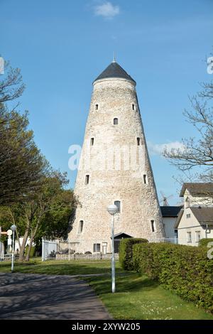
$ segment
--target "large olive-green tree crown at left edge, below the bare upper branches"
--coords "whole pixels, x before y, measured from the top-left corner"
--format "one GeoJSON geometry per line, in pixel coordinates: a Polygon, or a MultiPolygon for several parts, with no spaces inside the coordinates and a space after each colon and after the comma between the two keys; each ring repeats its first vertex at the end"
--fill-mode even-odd
{"type": "Polygon", "coordinates": [[[30,197],[48,172],[49,164],[27,127],[27,113],[0,111],[0,205],[30,197]],[[8,125],[2,124],[5,119],[8,125]]]}

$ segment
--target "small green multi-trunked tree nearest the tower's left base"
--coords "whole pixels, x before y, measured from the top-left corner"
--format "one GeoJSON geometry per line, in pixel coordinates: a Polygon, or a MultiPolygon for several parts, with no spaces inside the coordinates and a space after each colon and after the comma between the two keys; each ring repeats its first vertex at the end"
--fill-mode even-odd
{"type": "MultiPolygon", "coordinates": [[[[66,190],[65,173],[53,171],[43,178],[43,185],[36,191],[31,200],[1,208],[1,219],[10,220],[17,226],[16,237],[23,236],[19,244],[19,260],[23,261],[26,242],[30,238],[26,261],[31,253],[33,242],[39,242],[41,237],[65,237],[70,225],[70,219],[75,214],[77,201],[72,190],[66,190]],[[3,217],[4,216],[4,217],[3,217]]],[[[0,220],[1,221],[1,220],[0,220]]]]}

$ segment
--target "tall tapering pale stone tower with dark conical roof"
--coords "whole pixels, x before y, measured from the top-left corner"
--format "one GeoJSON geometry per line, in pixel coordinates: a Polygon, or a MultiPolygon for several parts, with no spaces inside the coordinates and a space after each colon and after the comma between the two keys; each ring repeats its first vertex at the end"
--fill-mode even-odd
{"type": "Polygon", "coordinates": [[[107,206],[116,204],[115,235],[164,237],[136,82],[114,60],[94,90],[75,184],[80,205],[69,241],[80,252],[110,252],[107,206]]]}

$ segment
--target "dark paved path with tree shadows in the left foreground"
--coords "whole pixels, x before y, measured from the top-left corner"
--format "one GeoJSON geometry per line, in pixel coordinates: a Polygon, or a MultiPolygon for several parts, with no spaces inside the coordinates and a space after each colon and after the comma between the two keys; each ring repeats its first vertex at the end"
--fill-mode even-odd
{"type": "Polygon", "coordinates": [[[0,319],[111,319],[87,283],[73,277],[0,273],[0,319]]]}

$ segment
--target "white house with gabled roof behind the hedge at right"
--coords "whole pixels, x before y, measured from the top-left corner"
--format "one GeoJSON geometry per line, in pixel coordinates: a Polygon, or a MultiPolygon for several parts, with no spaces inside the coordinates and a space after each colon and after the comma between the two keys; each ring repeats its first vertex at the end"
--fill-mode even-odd
{"type": "Polygon", "coordinates": [[[174,226],[178,243],[197,246],[200,239],[213,238],[213,184],[184,183],[180,197],[184,207],[174,226]]]}

